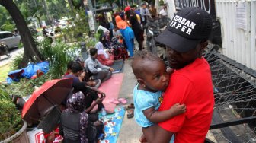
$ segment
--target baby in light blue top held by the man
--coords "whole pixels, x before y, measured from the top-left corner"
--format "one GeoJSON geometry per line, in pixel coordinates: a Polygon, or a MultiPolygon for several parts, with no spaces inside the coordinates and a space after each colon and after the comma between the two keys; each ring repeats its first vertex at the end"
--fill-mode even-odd
{"type": "Polygon", "coordinates": [[[158,111],[171,74],[171,69],[166,69],[162,59],[151,52],[138,51],[133,57],[132,68],[138,81],[133,90],[134,116],[143,132],[153,132],[149,126],[186,112],[186,106],[179,103],[171,106],[169,110],[158,111]]]}

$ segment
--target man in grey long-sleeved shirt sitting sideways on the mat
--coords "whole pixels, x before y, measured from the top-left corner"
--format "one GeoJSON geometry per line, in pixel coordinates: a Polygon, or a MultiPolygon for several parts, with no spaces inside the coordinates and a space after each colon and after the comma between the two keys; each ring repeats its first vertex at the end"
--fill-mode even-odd
{"type": "Polygon", "coordinates": [[[114,68],[102,65],[101,62],[96,59],[98,56],[97,52],[98,50],[96,48],[90,49],[90,56],[85,60],[85,70],[91,74],[92,79],[100,79],[102,83],[111,78],[114,68]]]}

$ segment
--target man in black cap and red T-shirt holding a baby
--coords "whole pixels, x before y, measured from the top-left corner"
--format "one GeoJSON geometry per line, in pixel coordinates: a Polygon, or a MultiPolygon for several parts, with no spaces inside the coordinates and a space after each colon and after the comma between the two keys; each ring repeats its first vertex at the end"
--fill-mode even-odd
{"type": "Polygon", "coordinates": [[[179,11],[166,30],[155,38],[166,46],[168,63],[174,69],[158,111],[175,103],[185,104],[187,112],[150,126],[143,132],[149,142],[203,143],[213,116],[214,96],[210,65],[202,52],[213,27],[210,14],[201,8],[179,11]]]}

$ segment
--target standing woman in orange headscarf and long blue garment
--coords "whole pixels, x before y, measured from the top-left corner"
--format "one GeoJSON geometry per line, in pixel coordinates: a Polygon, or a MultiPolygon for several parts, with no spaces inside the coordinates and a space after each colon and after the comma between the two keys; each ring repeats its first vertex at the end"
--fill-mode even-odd
{"type": "Polygon", "coordinates": [[[134,33],[132,28],[128,26],[126,21],[123,21],[120,16],[116,18],[117,27],[120,30],[120,33],[124,37],[124,41],[126,43],[127,49],[130,52],[130,57],[133,57],[133,47],[134,47],[134,33]]]}

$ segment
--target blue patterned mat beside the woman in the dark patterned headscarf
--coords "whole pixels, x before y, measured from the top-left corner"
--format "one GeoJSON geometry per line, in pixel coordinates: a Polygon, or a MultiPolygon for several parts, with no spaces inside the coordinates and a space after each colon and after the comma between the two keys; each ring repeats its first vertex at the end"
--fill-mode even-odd
{"type": "MultiPolygon", "coordinates": [[[[101,135],[98,142],[101,143],[116,143],[122,126],[125,110],[116,108],[115,113],[105,116],[104,119],[104,135],[101,135]]],[[[102,118],[99,114],[99,118],[102,118]]]]}

